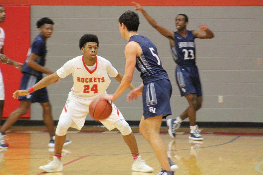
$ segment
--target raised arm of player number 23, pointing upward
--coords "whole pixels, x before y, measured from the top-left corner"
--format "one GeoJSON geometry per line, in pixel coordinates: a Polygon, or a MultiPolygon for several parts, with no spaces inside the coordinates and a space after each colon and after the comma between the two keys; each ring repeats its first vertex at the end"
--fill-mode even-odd
{"type": "Polygon", "coordinates": [[[145,17],[145,19],[150,23],[150,25],[156,30],[158,30],[160,34],[162,34],[163,36],[169,39],[174,39],[174,32],[172,30],[166,29],[165,27],[158,24],[152,17],[150,17],[150,15],[148,15],[148,13],[146,13],[146,11],[141,7],[139,3],[136,2],[131,2],[131,3],[134,3],[134,10],[141,12],[145,17]]]}

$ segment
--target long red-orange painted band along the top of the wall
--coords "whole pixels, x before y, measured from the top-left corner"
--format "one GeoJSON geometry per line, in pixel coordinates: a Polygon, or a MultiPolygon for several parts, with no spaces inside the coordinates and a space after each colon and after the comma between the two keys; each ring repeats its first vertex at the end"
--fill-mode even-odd
{"type": "MultiPolygon", "coordinates": [[[[0,0],[0,4],[34,6],[133,6],[132,0],[0,0]]],[[[263,0],[138,0],[143,6],[263,6],[263,0]]]]}

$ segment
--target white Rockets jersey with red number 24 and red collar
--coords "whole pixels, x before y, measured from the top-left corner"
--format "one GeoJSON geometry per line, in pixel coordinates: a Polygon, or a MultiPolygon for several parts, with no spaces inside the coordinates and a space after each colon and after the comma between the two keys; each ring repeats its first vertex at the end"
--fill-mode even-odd
{"type": "Polygon", "coordinates": [[[57,70],[60,78],[65,78],[69,74],[73,76],[72,94],[82,99],[96,99],[105,95],[111,80],[116,77],[118,71],[112,64],[103,57],[96,56],[95,67],[92,71],[84,63],[83,56],[78,56],[66,62],[63,67],[57,70]]]}

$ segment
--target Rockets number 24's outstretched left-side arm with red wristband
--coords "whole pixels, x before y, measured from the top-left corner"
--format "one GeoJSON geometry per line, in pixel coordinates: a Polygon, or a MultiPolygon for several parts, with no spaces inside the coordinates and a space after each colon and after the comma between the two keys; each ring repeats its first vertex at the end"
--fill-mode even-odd
{"type": "Polygon", "coordinates": [[[13,93],[13,98],[18,99],[19,96],[28,95],[36,90],[39,90],[41,88],[44,88],[48,85],[51,85],[52,83],[55,83],[60,77],[58,76],[57,72],[54,72],[53,74],[46,76],[39,82],[37,82],[34,86],[27,90],[16,90],[13,93]]]}

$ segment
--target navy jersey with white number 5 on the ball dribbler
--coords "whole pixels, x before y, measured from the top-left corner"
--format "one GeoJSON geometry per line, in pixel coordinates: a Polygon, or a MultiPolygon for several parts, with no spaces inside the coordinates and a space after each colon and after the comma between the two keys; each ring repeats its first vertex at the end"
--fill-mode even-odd
{"type": "Polygon", "coordinates": [[[142,53],[136,57],[136,69],[141,72],[143,84],[157,81],[160,79],[168,79],[166,71],[162,68],[162,63],[158,57],[157,48],[145,36],[133,35],[129,42],[135,41],[140,44],[142,53]]]}

